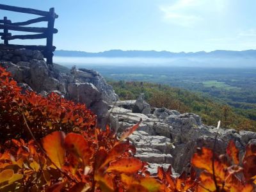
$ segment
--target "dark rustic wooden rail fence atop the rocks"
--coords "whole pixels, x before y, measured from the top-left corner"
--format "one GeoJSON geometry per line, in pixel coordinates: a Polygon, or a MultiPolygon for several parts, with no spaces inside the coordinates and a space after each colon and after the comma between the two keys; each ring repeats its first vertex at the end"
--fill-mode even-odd
{"type": "Polygon", "coordinates": [[[54,12],[54,8],[50,8],[49,12],[44,12],[40,10],[34,10],[30,8],[21,8],[17,6],[9,6],[5,4],[0,4],[0,10],[7,10],[10,12],[19,12],[19,13],[29,13],[33,15],[40,15],[36,19],[27,20],[25,22],[12,22],[8,20],[7,17],[4,17],[3,20],[0,20],[0,29],[3,29],[3,32],[0,32],[1,39],[4,40],[4,44],[0,44],[3,49],[20,49],[26,48],[31,50],[38,50],[44,54],[44,57],[47,59],[47,63],[52,65],[52,56],[56,47],[52,45],[53,34],[58,33],[58,30],[54,28],[54,21],[58,18],[58,15],[54,12]],[[35,28],[28,27],[30,24],[35,24],[38,22],[48,22],[47,28],[35,28]],[[24,31],[38,33],[34,35],[12,35],[10,31],[24,31]],[[43,39],[46,38],[45,45],[12,45],[9,44],[9,40],[15,39],[43,39]]]}

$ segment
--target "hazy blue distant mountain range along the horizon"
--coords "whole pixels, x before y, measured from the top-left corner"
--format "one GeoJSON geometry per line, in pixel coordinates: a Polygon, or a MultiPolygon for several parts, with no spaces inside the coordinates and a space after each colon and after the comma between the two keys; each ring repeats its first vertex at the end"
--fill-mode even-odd
{"type": "Polygon", "coordinates": [[[256,50],[211,52],[169,52],[169,51],[122,51],[110,50],[104,52],[65,51],[54,52],[55,56],[64,57],[107,57],[107,58],[256,58],[256,50]]]}

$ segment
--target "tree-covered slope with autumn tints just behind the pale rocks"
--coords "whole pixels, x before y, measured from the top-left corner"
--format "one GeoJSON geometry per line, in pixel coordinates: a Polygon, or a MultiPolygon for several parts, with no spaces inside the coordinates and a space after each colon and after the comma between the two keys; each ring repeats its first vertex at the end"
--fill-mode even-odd
{"type": "Polygon", "coordinates": [[[144,82],[114,81],[111,85],[121,100],[136,99],[140,93],[145,93],[145,100],[156,108],[170,108],[181,113],[197,113],[207,125],[216,125],[216,122],[221,120],[222,127],[255,131],[256,121],[240,115],[231,106],[200,93],[144,82]]]}

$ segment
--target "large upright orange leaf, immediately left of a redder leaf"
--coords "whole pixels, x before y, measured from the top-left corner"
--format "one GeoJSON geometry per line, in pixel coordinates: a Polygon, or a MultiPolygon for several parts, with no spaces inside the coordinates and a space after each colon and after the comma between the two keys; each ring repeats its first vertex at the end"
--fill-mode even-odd
{"type": "Polygon", "coordinates": [[[61,168],[65,158],[65,148],[63,147],[63,141],[65,133],[61,131],[55,131],[48,134],[42,139],[43,147],[50,157],[51,161],[61,168]]]}

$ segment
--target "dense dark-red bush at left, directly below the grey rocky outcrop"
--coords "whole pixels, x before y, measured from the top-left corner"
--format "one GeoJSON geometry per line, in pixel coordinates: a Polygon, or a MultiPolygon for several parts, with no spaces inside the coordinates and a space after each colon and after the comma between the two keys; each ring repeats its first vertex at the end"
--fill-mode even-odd
{"type": "Polygon", "coordinates": [[[84,104],[75,104],[51,93],[47,98],[35,92],[21,94],[21,88],[0,67],[0,137],[2,141],[12,138],[31,138],[26,132],[24,114],[36,138],[53,131],[77,132],[94,127],[96,118],[84,104]]]}

